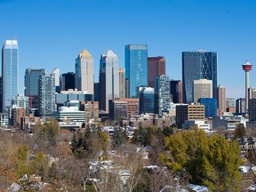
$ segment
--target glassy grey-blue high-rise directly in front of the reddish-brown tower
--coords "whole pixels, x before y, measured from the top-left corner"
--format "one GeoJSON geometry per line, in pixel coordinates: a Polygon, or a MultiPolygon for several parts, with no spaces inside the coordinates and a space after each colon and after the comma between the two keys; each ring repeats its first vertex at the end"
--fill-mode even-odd
{"type": "Polygon", "coordinates": [[[156,76],[155,80],[155,114],[159,117],[170,109],[170,77],[156,76]]]}

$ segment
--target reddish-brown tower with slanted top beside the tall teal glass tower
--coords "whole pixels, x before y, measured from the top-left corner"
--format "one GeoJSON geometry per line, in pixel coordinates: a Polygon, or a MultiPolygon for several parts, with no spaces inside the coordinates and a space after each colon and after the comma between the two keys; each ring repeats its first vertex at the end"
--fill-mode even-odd
{"type": "Polygon", "coordinates": [[[165,75],[165,58],[148,57],[148,87],[154,87],[156,76],[165,75]]]}

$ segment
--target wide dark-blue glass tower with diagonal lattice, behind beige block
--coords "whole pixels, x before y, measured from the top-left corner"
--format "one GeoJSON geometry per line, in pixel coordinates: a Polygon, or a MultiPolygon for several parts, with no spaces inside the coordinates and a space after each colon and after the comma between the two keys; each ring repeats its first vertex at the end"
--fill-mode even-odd
{"type": "Polygon", "coordinates": [[[218,84],[217,78],[217,52],[182,52],[183,102],[193,102],[194,80],[212,80],[214,93],[218,84]]]}

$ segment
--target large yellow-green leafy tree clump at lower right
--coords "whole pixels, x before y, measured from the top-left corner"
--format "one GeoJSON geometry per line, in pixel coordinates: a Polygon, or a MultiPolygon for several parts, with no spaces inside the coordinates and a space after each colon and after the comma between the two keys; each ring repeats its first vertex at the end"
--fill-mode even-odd
{"type": "Polygon", "coordinates": [[[198,128],[178,132],[165,139],[162,161],[193,184],[206,185],[212,191],[238,191],[241,165],[240,148],[236,140],[223,135],[207,137],[198,128]]]}

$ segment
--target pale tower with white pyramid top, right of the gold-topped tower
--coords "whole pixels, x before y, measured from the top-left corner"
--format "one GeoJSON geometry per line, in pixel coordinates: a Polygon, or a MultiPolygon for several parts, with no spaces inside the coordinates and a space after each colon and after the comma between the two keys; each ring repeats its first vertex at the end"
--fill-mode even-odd
{"type": "Polygon", "coordinates": [[[108,50],[100,57],[100,109],[108,113],[108,100],[116,98],[119,98],[118,58],[108,50]]]}

